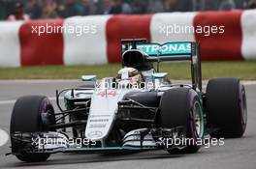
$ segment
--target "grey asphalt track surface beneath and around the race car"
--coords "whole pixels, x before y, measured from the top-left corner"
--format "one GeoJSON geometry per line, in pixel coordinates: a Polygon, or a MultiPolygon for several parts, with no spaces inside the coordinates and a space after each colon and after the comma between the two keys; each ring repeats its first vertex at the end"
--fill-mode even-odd
{"type": "MultiPolygon", "coordinates": [[[[9,132],[10,117],[15,100],[24,95],[45,95],[54,104],[55,89],[74,87],[79,81],[0,81],[0,128],[9,132]]],[[[47,162],[24,163],[10,152],[10,140],[0,147],[0,168],[67,168],[67,169],[255,169],[256,168],[256,84],[245,86],[248,125],[244,137],[225,139],[224,146],[202,148],[194,155],[169,155],[165,151],[137,154],[56,154],[47,162]]]]}

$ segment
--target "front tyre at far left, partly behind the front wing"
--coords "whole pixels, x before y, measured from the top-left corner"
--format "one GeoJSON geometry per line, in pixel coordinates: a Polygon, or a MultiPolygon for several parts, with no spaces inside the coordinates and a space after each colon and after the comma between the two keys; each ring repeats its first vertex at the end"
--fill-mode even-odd
{"type": "MultiPolygon", "coordinates": [[[[47,125],[55,124],[54,110],[46,97],[27,96],[16,100],[11,117],[11,135],[16,131],[38,132],[48,131],[47,125]]],[[[27,154],[23,149],[27,146],[20,144],[11,137],[12,152],[25,162],[46,161],[49,154],[27,154]]],[[[29,143],[30,144],[30,143],[29,143]]],[[[29,145],[28,145],[29,146],[29,145]]],[[[31,146],[31,145],[30,145],[31,146]]]]}

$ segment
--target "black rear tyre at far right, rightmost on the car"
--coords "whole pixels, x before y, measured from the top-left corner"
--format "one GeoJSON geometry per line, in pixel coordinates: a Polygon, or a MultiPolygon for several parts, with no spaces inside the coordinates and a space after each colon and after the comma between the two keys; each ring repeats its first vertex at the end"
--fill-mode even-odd
{"type": "Polygon", "coordinates": [[[210,127],[217,128],[211,137],[241,137],[247,124],[246,95],[240,79],[216,78],[208,82],[207,117],[210,127]]]}

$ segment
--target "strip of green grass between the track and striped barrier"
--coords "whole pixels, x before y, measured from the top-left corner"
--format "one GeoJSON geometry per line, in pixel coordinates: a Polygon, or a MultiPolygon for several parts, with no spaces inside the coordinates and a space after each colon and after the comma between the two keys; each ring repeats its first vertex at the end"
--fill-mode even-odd
{"type": "MultiPolygon", "coordinates": [[[[115,76],[120,68],[120,64],[1,68],[0,79],[78,79],[82,74],[105,77],[115,76]]],[[[160,71],[168,72],[172,79],[190,79],[189,63],[161,63],[160,71]]],[[[239,77],[243,80],[256,80],[256,62],[203,62],[202,72],[203,79],[239,77]]]]}

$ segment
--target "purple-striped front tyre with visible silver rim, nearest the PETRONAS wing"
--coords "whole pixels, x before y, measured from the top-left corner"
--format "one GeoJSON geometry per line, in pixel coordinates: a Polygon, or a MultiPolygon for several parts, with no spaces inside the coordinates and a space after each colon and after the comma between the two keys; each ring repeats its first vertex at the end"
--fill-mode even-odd
{"type": "Polygon", "coordinates": [[[170,154],[196,153],[202,145],[198,139],[204,138],[204,115],[201,101],[195,91],[188,88],[176,88],[166,91],[160,101],[160,126],[166,128],[185,127],[186,138],[194,140],[186,143],[180,151],[168,151],[170,154]]]}

